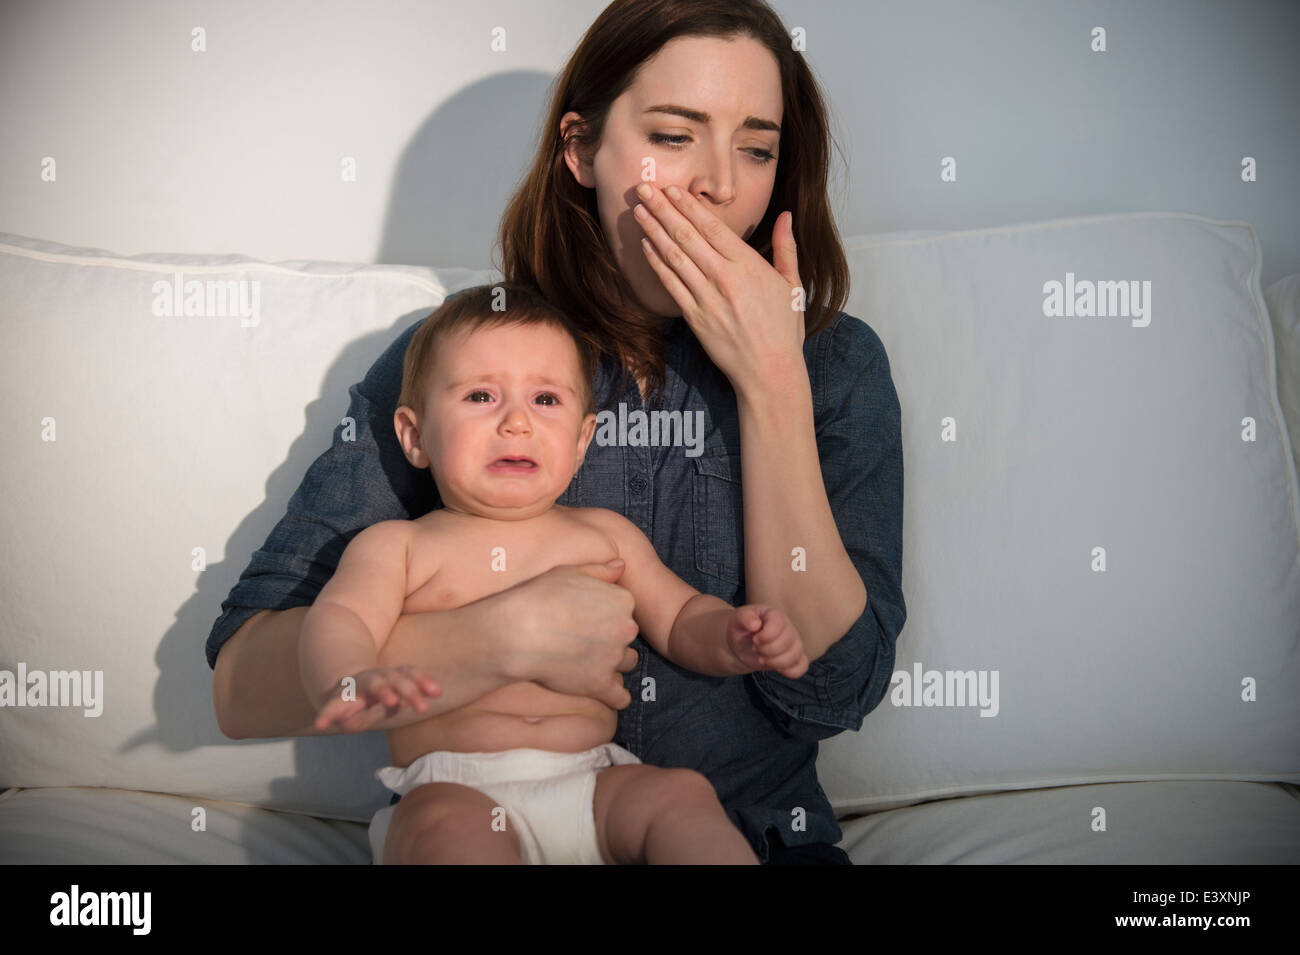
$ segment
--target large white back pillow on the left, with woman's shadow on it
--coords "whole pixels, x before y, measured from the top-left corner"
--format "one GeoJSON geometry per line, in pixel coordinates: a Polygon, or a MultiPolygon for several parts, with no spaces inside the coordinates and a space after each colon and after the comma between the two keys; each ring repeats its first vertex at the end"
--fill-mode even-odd
{"type": "Polygon", "coordinates": [[[0,670],[103,673],[99,716],[0,709],[0,787],[198,794],[356,820],[387,804],[373,778],[387,764],[381,733],[226,739],[204,641],[329,448],[348,386],[446,292],[495,279],[125,259],[0,234],[0,670]],[[204,309],[213,292],[211,314],[157,313],[177,273],[182,291],[203,283],[204,309]],[[248,282],[256,322],[251,308],[247,325],[216,313],[228,281],[248,282]]]}

